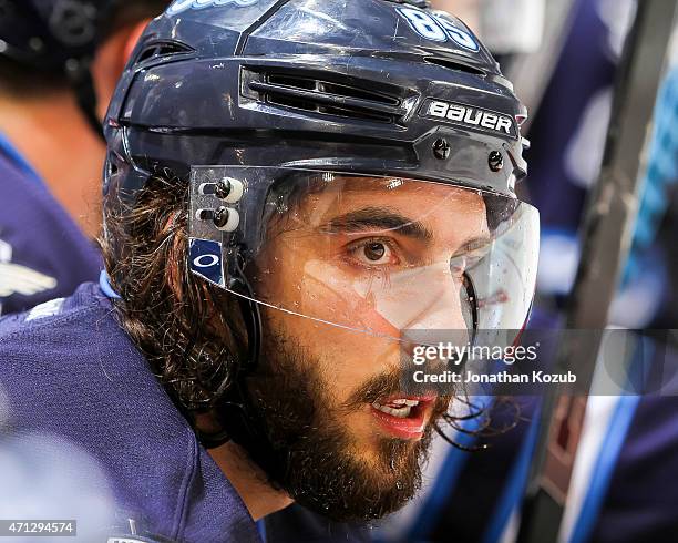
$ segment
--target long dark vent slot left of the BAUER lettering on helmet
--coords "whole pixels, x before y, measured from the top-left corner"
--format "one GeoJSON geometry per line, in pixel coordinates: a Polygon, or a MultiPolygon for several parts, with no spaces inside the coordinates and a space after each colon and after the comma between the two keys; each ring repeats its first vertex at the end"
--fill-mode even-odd
{"type": "Polygon", "coordinates": [[[251,72],[246,78],[246,86],[271,105],[380,123],[398,123],[407,113],[399,96],[359,86],[353,81],[338,83],[305,75],[251,72]]]}

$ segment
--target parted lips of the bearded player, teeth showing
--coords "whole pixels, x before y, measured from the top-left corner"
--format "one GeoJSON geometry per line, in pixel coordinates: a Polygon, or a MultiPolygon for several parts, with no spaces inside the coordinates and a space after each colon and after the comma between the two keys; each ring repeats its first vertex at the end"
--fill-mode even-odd
{"type": "Polygon", "coordinates": [[[394,396],[373,402],[370,410],[386,432],[417,440],[423,436],[434,401],[434,396],[394,396]]]}

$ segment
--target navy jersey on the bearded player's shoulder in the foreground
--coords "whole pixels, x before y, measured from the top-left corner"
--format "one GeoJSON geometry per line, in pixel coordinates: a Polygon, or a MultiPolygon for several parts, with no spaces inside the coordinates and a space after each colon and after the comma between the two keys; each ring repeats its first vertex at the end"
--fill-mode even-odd
{"type": "MultiPolygon", "coordinates": [[[[63,457],[75,455],[88,459],[76,461],[79,472],[85,463],[99,467],[86,477],[70,477],[74,488],[61,494],[91,495],[92,481],[104,479],[114,525],[124,527],[125,519],[133,519],[140,534],[201,543],[246,543],[261,536],[268,543],[368,541],[364,526],[331,523],[298,505],[255,525],[94,284],[82,285],[70,298],[0,318],[0,470],[8,451],[19,449],[24,461],[33,461],[37,448],[58,447],[62,450],[52,463],[60,469],[63,457]],[[10,413],[10,420],[3,422],[2,413],[10,413]],[[22,440],[3,445],[3,427],[13,429],[12,436],[32,437],[25,450],[22,440]],[[65,444],[55,445],[53,437],[65,444]]],[[[51,473],[40,469],[44,463],[35,460],[31,469],[51,473]]],[[[0,485],[0,503],[16,498],[13,489],[11,496],[3,495],[9,492],[6,483],[0,485]]],[[[27,490],[25,484],[19,486],[27,490]]],[[[28,491],[34,494],[25,496],[30,503],[47,500],[44,482],[28,491]]],[[[94,501],[105,501],[103,494],[94,501]]],[[[71,516],[58,518],[75,518],[82,501],[69,510],[75,511],[71,516]]],[[[88,518],[106,519],[100,509],[88,511],[88,518]]],[[[112,533],[120,535],[120,530],[112,533]]]]}

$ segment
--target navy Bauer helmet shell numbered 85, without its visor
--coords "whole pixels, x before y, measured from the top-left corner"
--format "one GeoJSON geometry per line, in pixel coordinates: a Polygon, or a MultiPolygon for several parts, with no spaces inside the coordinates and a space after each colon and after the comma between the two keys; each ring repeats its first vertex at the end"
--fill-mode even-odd
{"type": "Polygon", "coordinates": [[[193,164],[407,173],[514,195],[525,107],[469,28],[427,4],[174,1],[109,110],[107,201],[157,166],[193,164]]]}

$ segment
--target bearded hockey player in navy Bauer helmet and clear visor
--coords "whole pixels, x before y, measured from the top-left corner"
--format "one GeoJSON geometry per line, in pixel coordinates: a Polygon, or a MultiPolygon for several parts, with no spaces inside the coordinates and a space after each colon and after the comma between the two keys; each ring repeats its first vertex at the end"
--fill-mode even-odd
{"type": "Polygon", "coordinates": [[[105,123],[107,276],[0,322],[17,426],[90,452],[143,541],[399,509],[451,398],[404,391],[405,339],[527,318],[524,117],[425,2],[173,2],[105,123]]]}

